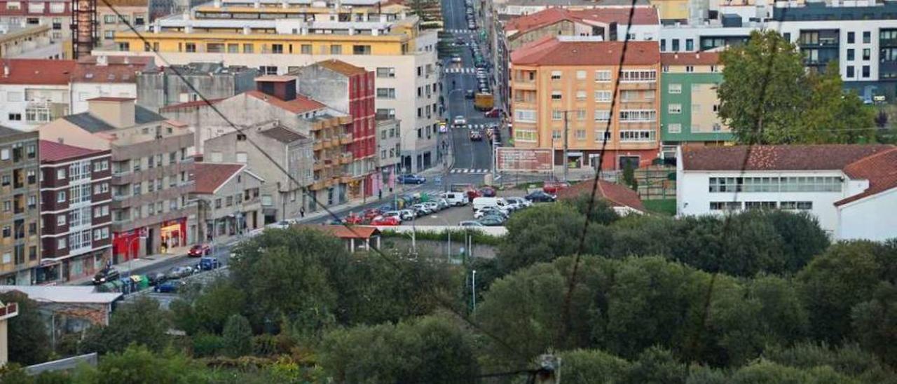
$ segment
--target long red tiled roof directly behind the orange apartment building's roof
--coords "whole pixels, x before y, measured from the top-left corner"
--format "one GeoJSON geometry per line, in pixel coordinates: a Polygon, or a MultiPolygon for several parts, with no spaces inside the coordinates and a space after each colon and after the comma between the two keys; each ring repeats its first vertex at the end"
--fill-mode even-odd
{"type": "Polygon", "coordinates": [[[597,8],[569,10],[562,7],[546,8],[543,11],[515,17],[505,23],[505,31],[524,33],[542,28],[555,22],[616,22],[618,25],[629,24],[629,13],[632,10],[632,25],[659,24],[658,10],[654,7],[597,8]]]}

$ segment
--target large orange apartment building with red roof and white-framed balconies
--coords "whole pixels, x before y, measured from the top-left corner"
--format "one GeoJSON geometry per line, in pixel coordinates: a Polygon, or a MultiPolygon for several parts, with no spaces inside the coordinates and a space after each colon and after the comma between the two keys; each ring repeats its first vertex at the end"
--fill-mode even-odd
{"type": "Polygon", "coordinates": [[[514,145],[553,148],[556,165],[575,168],[597,167],[601,156],[609,170],[627,163],[648,165],[657,158],[658,43],[629,42],[621,71],[623,44],[559,36],[514,51],[510,68],[514,145]],[[623,78],[614,93],[618,73],[623,78]]]}

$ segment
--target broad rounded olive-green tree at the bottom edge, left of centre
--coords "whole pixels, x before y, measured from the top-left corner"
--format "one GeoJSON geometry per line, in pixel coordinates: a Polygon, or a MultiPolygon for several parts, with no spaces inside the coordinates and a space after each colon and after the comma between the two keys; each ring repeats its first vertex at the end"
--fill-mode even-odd
{"type": "Polygon", "coordinates": [[[468,331],[441,317],[335,329],[320,362],[336,382],[469,382],[479,372],[468,331]]]}

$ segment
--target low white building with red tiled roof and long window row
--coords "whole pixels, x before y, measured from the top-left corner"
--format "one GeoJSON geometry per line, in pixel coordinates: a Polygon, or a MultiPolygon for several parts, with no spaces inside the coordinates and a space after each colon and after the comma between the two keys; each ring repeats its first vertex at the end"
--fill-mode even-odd
{"type": "Polygon", "coordinates": [[[897,238],[897,147],[680,147],[676,214],[783,209],[813,214],[833,239],[897,238]]]}

